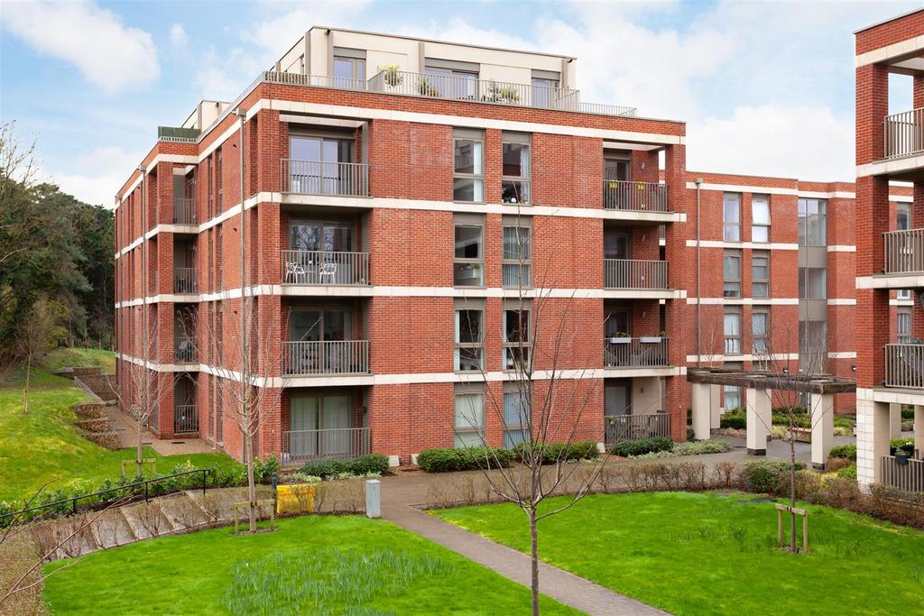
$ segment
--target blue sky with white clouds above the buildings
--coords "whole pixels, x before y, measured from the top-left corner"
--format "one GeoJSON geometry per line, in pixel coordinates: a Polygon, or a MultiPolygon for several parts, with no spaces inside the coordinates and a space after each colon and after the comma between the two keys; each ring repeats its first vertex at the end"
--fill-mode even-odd
{"type": "MultiPolygon", "coordinates": [[[[873,2],[0,3],[0,122],[43,178],[111,206],[158,126],[232,100],[312,25],[577,56],[581,100],[687,122],[687,168],[854,179],[854,30],[873,2]]],[[[890,107],[911,107],[894,77],[890,107]]]]}

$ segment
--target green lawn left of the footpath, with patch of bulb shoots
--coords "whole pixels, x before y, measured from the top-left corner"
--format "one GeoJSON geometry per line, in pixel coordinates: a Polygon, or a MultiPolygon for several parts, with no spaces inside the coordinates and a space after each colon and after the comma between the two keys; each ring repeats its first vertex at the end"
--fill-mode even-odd
{"type": "MultiPolygon", "coordinates": [[[[47,565],[48,570],[66,562],[47,565]]],[[[53,613],[527,613],[529,590],[388,522],[306,516],[91,553],[45,581],[53,613]]],[[[542,598],[543,613],[577,613],[542,598]]]]}

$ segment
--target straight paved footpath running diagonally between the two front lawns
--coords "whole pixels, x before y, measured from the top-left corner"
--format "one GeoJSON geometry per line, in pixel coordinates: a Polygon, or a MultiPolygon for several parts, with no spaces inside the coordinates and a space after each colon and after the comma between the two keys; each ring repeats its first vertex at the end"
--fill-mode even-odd
{"type": "MultiPolygon", "coordinates": [[[[529,587],[531,563],[528,555],[451,525],[408,504],[424,500],[430,477],[433,476],[384,477],[382,517],[529,587]]],[[[539,580],[543,595],[588,614],[667,613],[544,562],[539,563],[539,580]]]]}

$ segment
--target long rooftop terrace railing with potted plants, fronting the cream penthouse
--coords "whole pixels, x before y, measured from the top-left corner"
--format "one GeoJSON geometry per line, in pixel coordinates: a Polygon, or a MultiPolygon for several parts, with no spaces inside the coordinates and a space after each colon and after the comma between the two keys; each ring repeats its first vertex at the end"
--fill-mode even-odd
{"type": "Polygon", "coordinates": [[[568,88],[475,79],[451,75],[426,75],[403,70],[385,70],[368,81],[317,75],[299,75],[264,71],[264,81],[288,85],[370,91],[400,96],[420,96],[449,101],[505,104],[536,109],[556,109],[584,114],[623,115],[634,117],[636,109],[623,105],[581,103],[580,92],[568,88]]]}

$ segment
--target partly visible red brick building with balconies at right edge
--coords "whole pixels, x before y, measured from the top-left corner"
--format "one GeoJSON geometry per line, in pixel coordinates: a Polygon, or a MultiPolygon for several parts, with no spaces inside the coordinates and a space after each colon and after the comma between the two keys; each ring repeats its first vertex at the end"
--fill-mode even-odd
{"type": "Polygon", "coordinates": [[[889,439],[895,409],[913,406],[924,451],[924,10],[858,30],[856,66],[857,479],[869,486],[918,477],[905,487],[922,489],[924,462],[898,464],[889,439]],[[911,78],[913,109],[890,108],[890,75],[911,78]],[[897,211],[894,182],[912,186],[897,211]]]}

